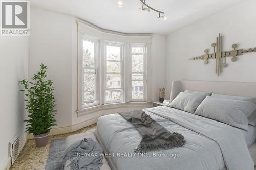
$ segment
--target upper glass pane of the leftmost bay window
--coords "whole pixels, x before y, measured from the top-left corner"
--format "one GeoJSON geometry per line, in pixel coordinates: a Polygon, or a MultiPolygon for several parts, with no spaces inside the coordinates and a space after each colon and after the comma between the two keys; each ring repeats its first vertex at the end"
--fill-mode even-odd
{"type": "Polygon", "coordinates": [[[83,66],[94,66],[94,43],[83,40],[83,66]]]}

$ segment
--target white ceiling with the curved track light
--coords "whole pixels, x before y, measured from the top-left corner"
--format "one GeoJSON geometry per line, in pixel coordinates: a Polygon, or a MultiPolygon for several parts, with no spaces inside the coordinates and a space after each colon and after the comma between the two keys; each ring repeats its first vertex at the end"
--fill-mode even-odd
{"type": "Polygon", "coordinates": [[[163,11],[167,20],[158,19],[155,11],[140,10],[140,0],[123,0],[123,7],[117,1],[31,0],[31,6],[72,15],[107,30],[165,35],[244,0],[146,0],[163,11]]]}

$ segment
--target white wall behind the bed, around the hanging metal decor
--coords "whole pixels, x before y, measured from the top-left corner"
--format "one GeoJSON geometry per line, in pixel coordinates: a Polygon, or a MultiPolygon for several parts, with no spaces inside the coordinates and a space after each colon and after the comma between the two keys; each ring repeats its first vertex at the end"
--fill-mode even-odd
{"type": "Polygon", "coordinates": [[[223,50],[232,50],[231,45],[238,43],[238,48],[256,47],[256,1],[244,1],[215,15],[193,23],[193,25],[170,33],[166,39],[166,86],[169,97],[173,80],[209,80],[256,82],[256,53],[247,53],[237,57],[237,62],[227,58],[228,66],[221,76],[215,74],[215,60],[191,61],[190,57],[204,54],[204,49],[212,53],[211,43],[216,41],[218,33],[223,37],[223,50]]]}

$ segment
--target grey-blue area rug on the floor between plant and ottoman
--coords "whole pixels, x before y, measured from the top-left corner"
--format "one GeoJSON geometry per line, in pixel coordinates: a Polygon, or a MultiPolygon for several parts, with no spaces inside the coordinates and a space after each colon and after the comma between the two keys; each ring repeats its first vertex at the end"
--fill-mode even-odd
{"type": "Polygon", "coordinates": [[[62,170],[65,141],[66,138],[52,140],[46,161],[46,170],[62,170]]]}

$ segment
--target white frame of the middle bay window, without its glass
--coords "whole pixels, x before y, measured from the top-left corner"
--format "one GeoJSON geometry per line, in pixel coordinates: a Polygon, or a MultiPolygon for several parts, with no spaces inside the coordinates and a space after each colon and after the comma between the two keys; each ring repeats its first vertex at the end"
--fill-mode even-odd
{"type": "Polygon", "coordinates": [[[104,91],[102,94],[104,94],[104,104],[113,104],[113,103],[123,103],[124,102],[124,44],[120,42],[114,42],[114,41],[105,41],[104,42],[104,91]],[[120,47],[120,61],[119,60],[107,60],[107,46],[115,46],[115,47],[120,47]],[[107,62],[120,62],[120,76],[121,76],[121,87],[120,88],[108,88],[107,87],[107,81],[106,81],[106,75],[108,74],[118,74],[119,73],[108,73],[107,72],[107,62]],[[121,91],[121,100],[113,100],[113,101],[106,101],[106,90],[120,90],[121,91]]]}

